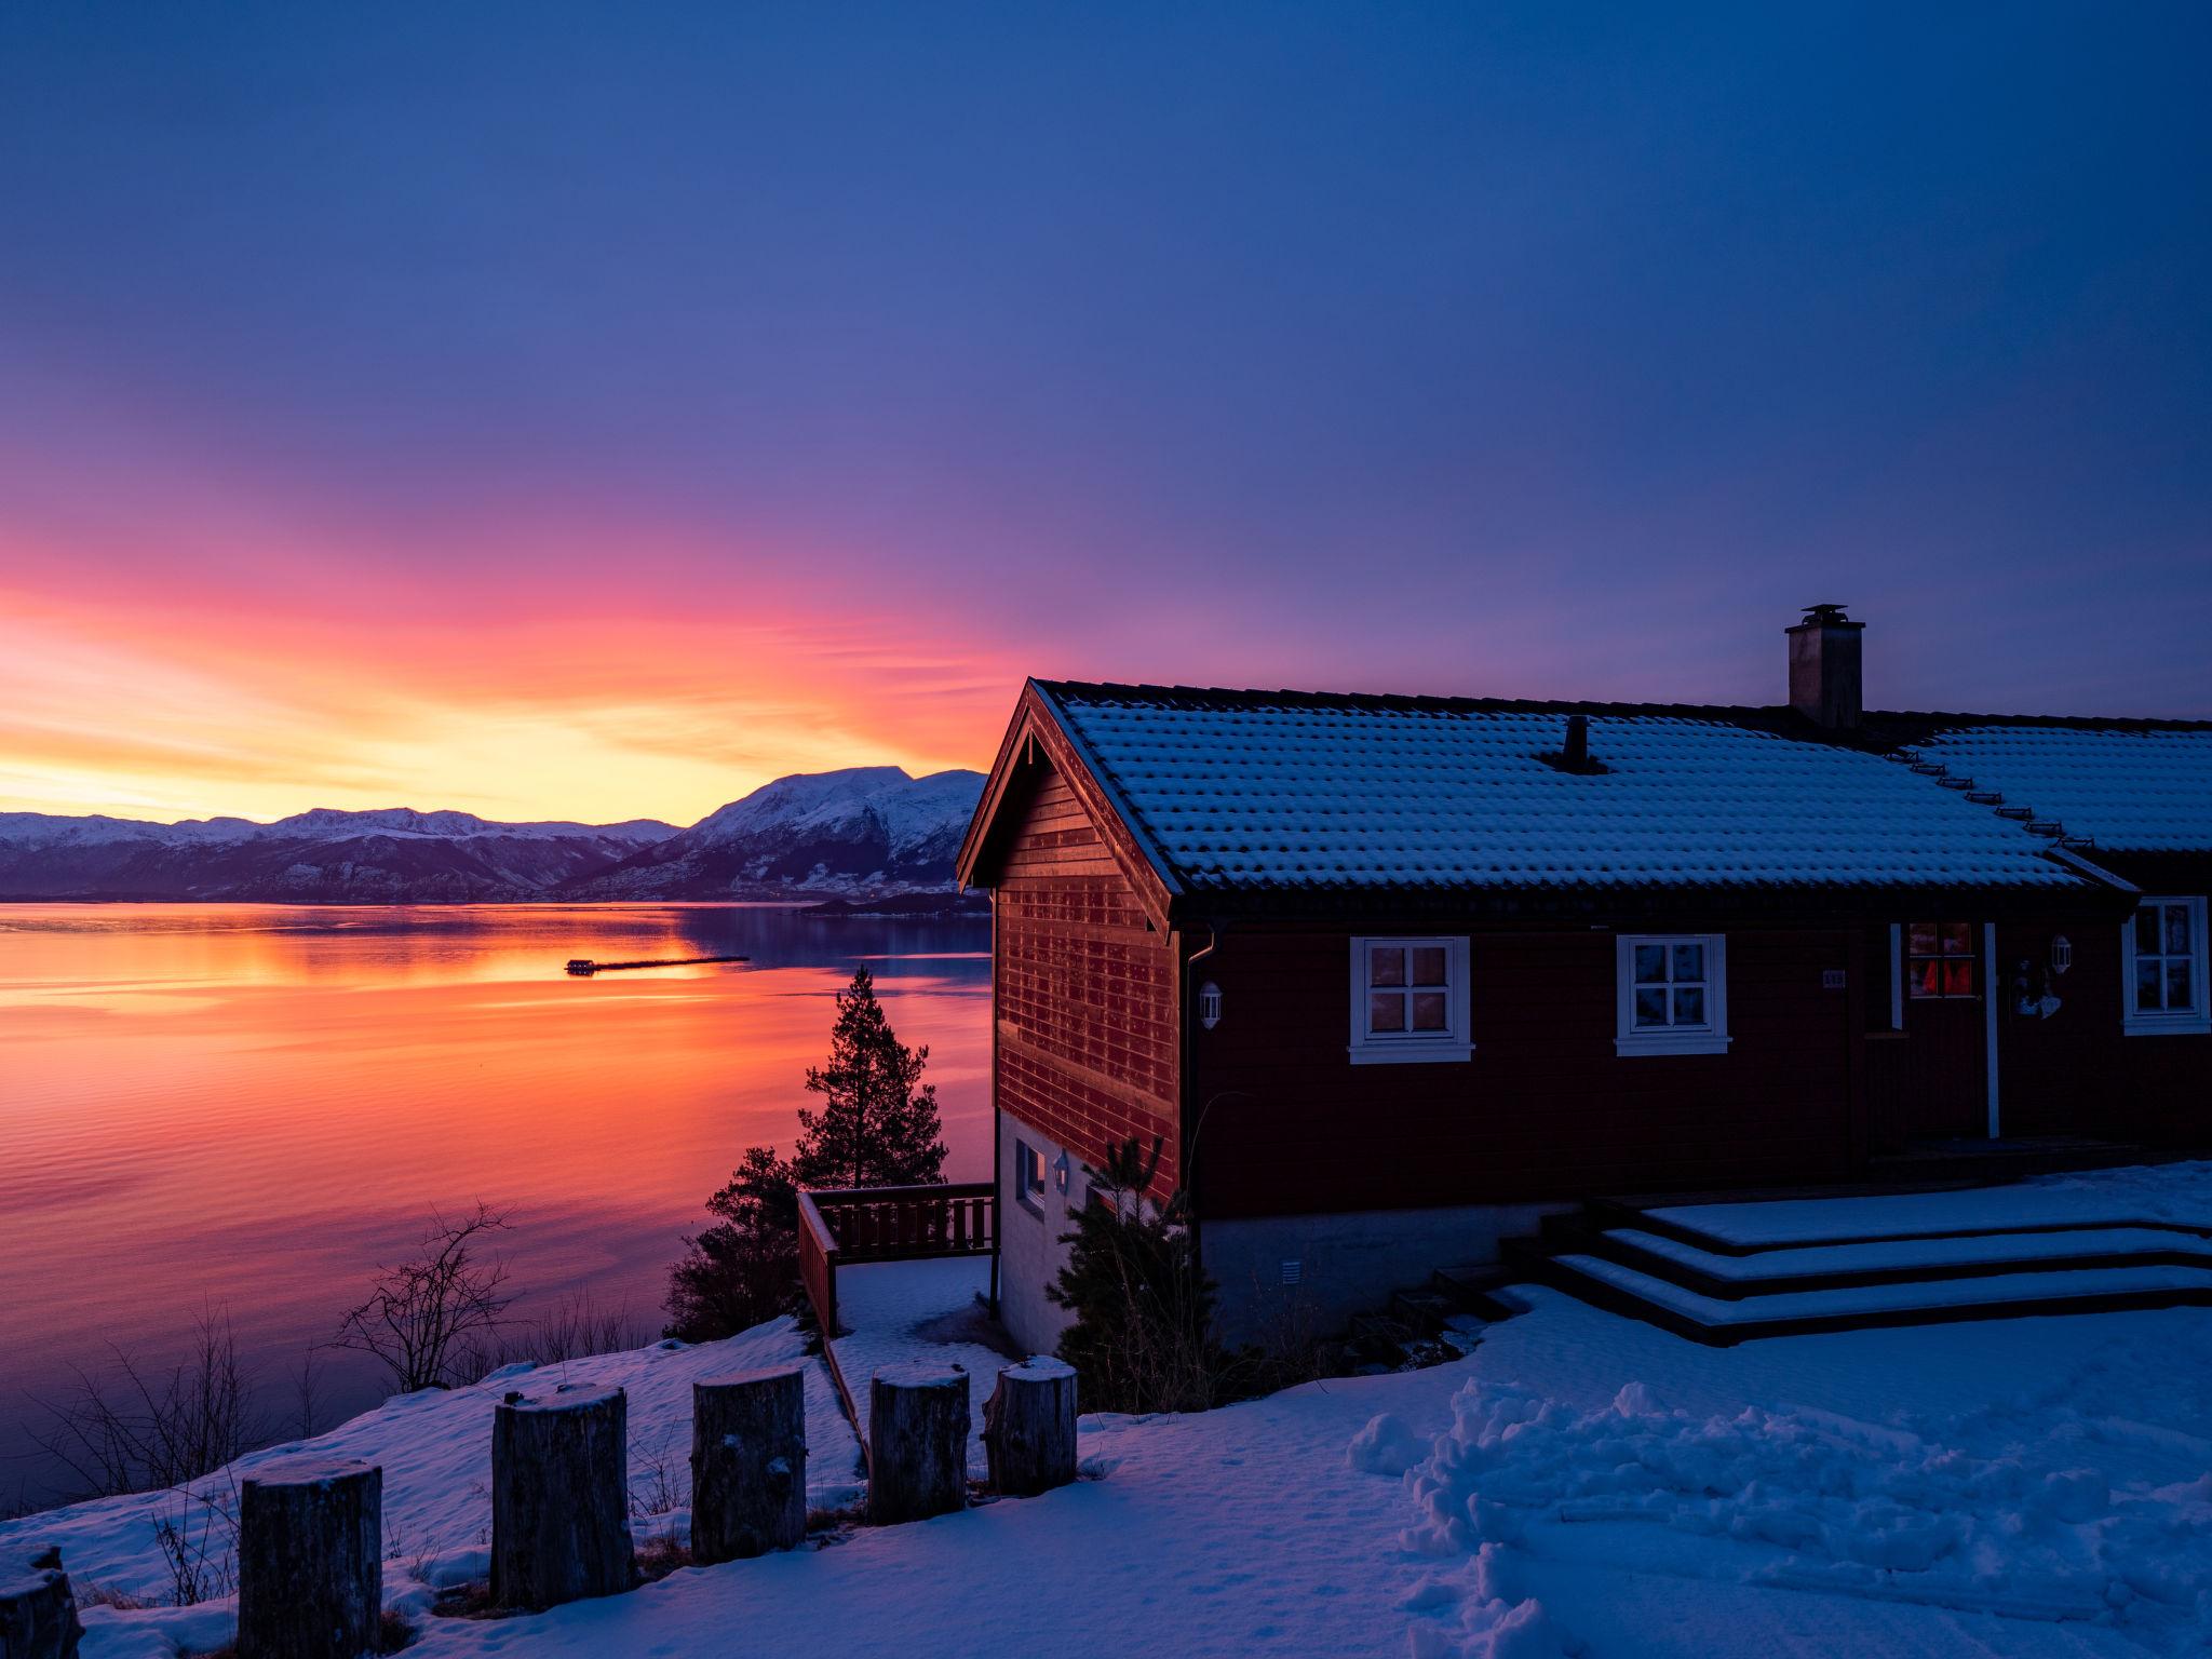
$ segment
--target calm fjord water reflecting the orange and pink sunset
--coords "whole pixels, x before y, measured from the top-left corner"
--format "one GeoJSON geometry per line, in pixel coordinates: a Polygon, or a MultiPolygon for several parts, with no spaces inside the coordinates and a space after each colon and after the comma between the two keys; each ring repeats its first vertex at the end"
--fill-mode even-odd
{"type": "MultiPolygon", "coordinates": [[[[518,1316],[661,1279],[745,1146],[790,1146],[867,962],[929,1044],[947,1175],[991,1166],[989,925],[750,905],[0,907],[0,1511],[35,1398],[223,1312],[272,1416],[431,1210],[507,1208],[518,1316]],[[750,956],[571,978],[564,962],[750,956]]],[[[376,1398],[325,1354],[325,1418],[376,1398]]]]}

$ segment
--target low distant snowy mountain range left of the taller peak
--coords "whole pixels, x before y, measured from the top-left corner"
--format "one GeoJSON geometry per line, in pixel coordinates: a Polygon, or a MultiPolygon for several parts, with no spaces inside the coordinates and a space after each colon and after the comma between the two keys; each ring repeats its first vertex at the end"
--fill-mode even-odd
{"type": "Polygon", "coordinates": [[[0,898],[458,902],[538,898],[675,825],[491,823],[469,812],[248,818],[55,818],[0,812],[0,898]]]}

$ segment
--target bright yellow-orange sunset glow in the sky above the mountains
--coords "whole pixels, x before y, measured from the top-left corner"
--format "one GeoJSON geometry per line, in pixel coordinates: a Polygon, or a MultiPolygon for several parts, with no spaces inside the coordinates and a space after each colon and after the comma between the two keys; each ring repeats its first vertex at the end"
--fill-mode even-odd
{"type": "Polygon", "coordinates": [[[787,602],[347,619],[0,586],[0,812],[414,805],[686,825],[785,772],[989,765],[1022,668],[925,633],[787,602]]]}

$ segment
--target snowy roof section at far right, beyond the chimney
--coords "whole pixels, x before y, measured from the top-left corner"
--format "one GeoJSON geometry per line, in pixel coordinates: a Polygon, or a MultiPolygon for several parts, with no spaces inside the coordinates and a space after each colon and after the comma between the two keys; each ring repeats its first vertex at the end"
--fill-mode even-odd
{"type": "Polygon", "coordinates": [[[2212,849],[2212,726],[1984,721],[1911,752],[2099,849],[2212,849]]]}

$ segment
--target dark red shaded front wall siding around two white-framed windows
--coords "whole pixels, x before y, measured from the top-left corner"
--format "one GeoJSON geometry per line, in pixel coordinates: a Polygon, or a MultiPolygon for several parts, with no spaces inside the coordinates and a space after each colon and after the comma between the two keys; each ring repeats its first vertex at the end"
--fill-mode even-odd
{"type": "MultiPolygon", "coordinates": [[[[1697,929],[1683,929],[1697,931],[1697,929]]],[[[1197,1035],[1201,1214],[1577,1199],[1854,1168],[1856,936],[1728,931],[1725,1055],[1621,1057],[1615,936],[1475,933],[1464,1064],[1347,1062],[1347,933],[1234,931],[1197,1035]]]]}

